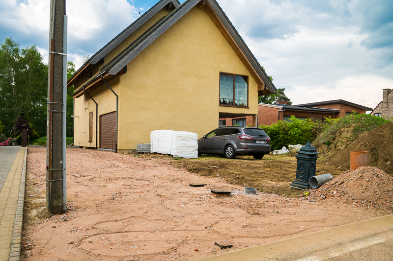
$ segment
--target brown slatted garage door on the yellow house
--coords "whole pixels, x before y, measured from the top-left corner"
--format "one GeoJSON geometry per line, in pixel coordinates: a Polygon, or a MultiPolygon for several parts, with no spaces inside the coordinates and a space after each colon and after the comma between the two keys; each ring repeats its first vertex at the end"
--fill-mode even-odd
{"type": "Polygon", "coordinates": [[[116,112],[100,116],[100,148],[116,149],[116,112]]]}

